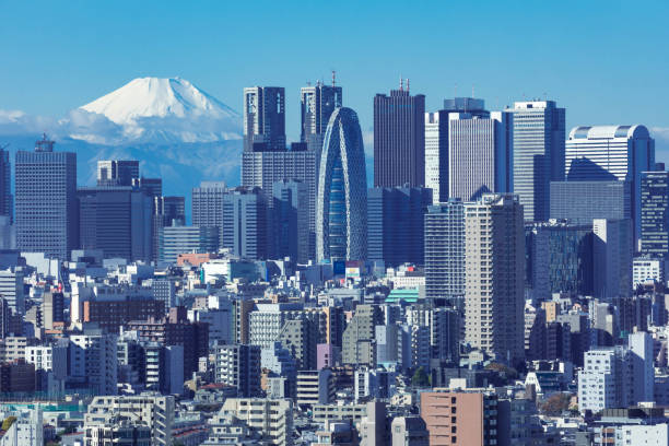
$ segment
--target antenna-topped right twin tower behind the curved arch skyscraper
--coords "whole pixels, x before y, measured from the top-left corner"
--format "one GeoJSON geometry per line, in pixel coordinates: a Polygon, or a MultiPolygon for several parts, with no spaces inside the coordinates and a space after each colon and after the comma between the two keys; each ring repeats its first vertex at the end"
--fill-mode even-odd
{"type": "Polygon", "coordinates": [[[342,105],[341,86],[334,85],[332,73],[332,85],[317,82],[315,86],[303,86],[300,89],[302,103],[302,133],[301,141],[307,144],[308,150],[319,154],[322,150],[322,140],[330,121],[330,116],[336,108],[342,105]]]}

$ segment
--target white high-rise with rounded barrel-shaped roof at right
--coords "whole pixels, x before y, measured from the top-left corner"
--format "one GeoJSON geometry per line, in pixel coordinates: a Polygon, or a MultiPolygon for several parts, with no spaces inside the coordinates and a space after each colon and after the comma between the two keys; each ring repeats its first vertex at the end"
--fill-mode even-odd
{"type": "Polygon", "coordinates": [[[567,181],[631,184],[636,246],[641,238],[642,172],[655,169],[655,140],[648,129],[638,125],[575,127],[566,141],[565,160],[567,181]]]}

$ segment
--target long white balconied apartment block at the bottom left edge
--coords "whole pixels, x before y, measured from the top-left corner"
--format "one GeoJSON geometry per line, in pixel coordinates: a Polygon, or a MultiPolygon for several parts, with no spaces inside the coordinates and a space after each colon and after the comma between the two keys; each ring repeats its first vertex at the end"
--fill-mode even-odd
{"type": "Polygon", "coordinates": [[[151,429],[151,444],[172,445],[174,424],[174,397],[138,395],[94,397],[84,414],[84,430],[89,425],[109,424],[119,416],[141,423],[151,429]]]}

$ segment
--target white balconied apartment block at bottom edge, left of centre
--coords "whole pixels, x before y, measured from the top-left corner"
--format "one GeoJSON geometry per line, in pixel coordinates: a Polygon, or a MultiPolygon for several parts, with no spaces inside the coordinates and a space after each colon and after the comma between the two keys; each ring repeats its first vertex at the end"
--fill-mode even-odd
{"type": "Polygon", "coordinates": [[[222,411],[244,421],[260,441],[277,446],[293,444],[293,401],[290,399],[228,398],[222,411]]]}

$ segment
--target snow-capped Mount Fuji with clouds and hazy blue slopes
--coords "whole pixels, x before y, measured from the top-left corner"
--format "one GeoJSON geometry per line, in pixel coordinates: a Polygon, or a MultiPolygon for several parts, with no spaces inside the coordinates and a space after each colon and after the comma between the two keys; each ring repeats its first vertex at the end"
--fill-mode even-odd
{"type": "Polygon", "coordinates": [[[77,152],[78,183],[95,184],[98,160],[140,161],[162,177],[164,195],[190,196],[201,180],[237,184],[242,117],[180,78],[139,78],[60,119],[0,109],[0,144],[32,150],[46,132],[56,150],[77,152]]]}

